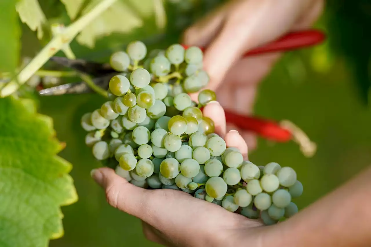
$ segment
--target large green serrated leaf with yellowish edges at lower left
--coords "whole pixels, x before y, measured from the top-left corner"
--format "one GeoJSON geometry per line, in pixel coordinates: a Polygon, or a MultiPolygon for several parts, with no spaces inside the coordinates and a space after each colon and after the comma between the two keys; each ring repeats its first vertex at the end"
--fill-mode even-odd
{"type": "Polygon", "coordinates": [[[52,118],[32,100],[0,99],[0,245],[46,247],[63,236],[60,206],[77,201],[52,118]]]}

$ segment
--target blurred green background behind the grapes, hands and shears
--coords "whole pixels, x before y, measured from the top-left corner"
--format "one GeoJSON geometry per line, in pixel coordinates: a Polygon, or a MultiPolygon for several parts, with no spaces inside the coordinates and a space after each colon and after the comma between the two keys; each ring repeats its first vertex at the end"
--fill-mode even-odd
{"type": "MultiPolygon", "coordinates": [[[[40,1],[47,17],[68,20],[63,5],[52,2],[40,1]]],[[[168,25],[164,31],[152,28],[153,21],[148,17],[144,27],[131,33],[98,39],[94,49],[73,42],[72,50],[80,58],[104,61],[113,50],[133,39],[144,40],[150,48],[166,47],[179,40],[185,27],[221,2],[167,2],[168,25]]],[[[286,53],[260,84],[255,113],[278,121],[289,119],[318,145],[315,156],[306,158],[293,142],[272,144],[259,139],[257,149],[250,153],[250,160],[257,165],[275,161],[297,171],[305,190],[295,201],[299,208],[371,164],[371,115],[367,104],[371,34],[362,32],[369,30],[370,17],[368,1],[328,1],[316,26],[324,29],[329,39],[318,47],[286,53]]],[[[42,45],[27,26],[23,25],[22,32],[22,54],[34,56],[42,45]]],[[[80,118],[104,99],[98,95],[64,95],[39,100],[40,112],[52,116],[58,138],[67,144],[60,155],[74,165],[71,175],[79,195],[77,203],[62,208],[65,236],[51,241],[50,246],[156,246],[144,239],[139,220],[106,203],[103,191],[89,175],[101,164],[84,144],[86,133],[80,127],[80,118]]]]}

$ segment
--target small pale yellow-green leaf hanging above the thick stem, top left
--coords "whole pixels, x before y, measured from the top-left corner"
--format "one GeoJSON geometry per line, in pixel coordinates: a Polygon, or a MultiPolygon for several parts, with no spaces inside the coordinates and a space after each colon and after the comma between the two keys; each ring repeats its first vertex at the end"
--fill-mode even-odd
{"type": "Polygon", "coordinates": [[[20,19],[26,23],[32,31],[37,30],[37,38],[42,39],[43,24],[46,22],[46,17],[37,0],[20,0],[16,4],[16,9],[20,19]]]}

